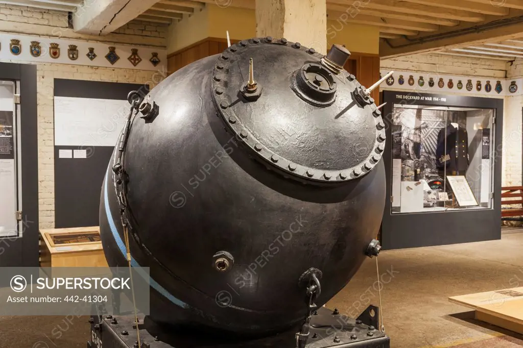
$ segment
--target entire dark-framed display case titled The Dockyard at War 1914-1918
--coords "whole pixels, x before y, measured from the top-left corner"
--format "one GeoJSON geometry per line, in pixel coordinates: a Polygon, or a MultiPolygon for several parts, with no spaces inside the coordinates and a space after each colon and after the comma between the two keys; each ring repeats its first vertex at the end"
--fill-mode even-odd
{"type": "Polygon", "coordinates": [[[382,92],[383,249],[501,238],[503,99],[382,92]]]}

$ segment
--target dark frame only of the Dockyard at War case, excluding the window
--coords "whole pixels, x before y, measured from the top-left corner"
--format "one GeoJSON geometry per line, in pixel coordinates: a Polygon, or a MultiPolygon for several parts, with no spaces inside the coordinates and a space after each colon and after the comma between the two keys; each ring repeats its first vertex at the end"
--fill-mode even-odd
{"type": "Polygon", "coordinates": [[[381,102],[386,103],[382,108],[382,114],[387,138],[383,154],[386,178],[386,198],[380,237],[383,248],[402,249],[500,239],[503,99],[386,90],[381,94],[381,102]],[[490,208],[392,213],[392,114],[394,106],[399,104],[493,110],[492,129],[495,136],[491,157],[494,168],[490,208]]]}

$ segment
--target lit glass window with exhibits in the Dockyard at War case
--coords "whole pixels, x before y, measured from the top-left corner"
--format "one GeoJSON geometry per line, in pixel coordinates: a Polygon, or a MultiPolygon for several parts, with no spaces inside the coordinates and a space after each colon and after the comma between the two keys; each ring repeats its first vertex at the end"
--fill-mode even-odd
{"type": "Polygon", "coordinates": [[[391,213],[492,207],[493,109],[395,104],[391,213]]]}

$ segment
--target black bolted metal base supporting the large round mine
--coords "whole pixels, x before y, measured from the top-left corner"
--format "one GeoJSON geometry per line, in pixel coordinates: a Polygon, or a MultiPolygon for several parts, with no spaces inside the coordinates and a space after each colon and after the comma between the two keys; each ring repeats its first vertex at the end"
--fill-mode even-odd
{"type": "MultiPolygon", "coordinates": [[[[103,317],[93,316],[91,337],[87,348],[138,348],[133,315],[103,317]]],[[[245,339],[206,337],[201,332],[175,332],[165,329],[149,318],[139,315],[142,348],[294,348],[295,332],[292,330],[265,338],[245,339]]],[[[358,319],[320,308],[312,316],[311,330],[306,348],[390,348],[389,337],[377,330],[378,308],[370,306],[358,319]]]]}

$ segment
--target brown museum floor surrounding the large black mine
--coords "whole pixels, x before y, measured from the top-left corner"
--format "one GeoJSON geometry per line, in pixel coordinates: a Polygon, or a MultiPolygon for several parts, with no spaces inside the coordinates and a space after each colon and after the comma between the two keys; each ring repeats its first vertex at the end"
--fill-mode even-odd
{"type": "MultiPolygon", "coordinates": [[[[382,252],[383,319],[391,346],[523,346],[523,336],[477,322],[473,312],[447,300],[518,283],[523,286],[522,250],[523,231],[509,230],[497,241],[382,252]]],[[[378,305],[376,278],[376,262],[369,259],[327,306],[355,312],[360,297],[378,305]]],[[[86,317],[74,318],[71,324],[63,317],[0,317],[0,337],[0,348],[84,348],[89,326],[86,317]],[[52,332],[62,335],[56,338],[52,332]]]]}

